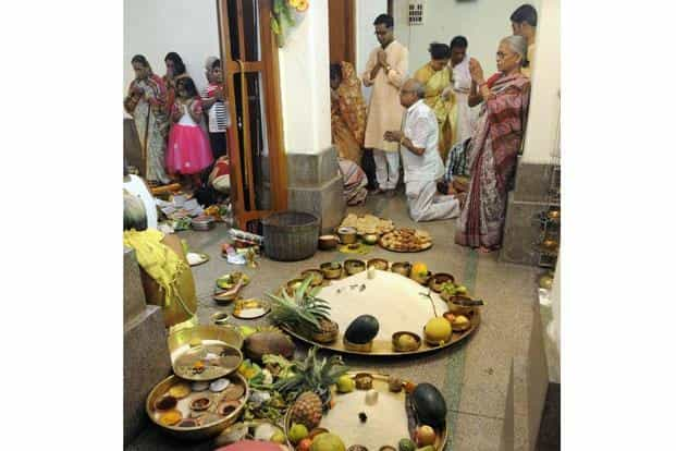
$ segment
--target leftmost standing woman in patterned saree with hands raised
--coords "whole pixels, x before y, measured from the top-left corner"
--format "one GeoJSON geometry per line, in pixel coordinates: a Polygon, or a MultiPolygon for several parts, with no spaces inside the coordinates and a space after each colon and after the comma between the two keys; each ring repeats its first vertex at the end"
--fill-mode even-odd
{"type": "Polygon", "coordinates": [[[164,170],[164,149],[169,132],[169,118],[165,113],[167,89],[162,78],[152,73],[152,69],[143,54],[132,58],[136,77],[130,84],[124,99],[124,109],[134,117],[142,159],[144,178],[150,184],[169,183],[164,170]]]}

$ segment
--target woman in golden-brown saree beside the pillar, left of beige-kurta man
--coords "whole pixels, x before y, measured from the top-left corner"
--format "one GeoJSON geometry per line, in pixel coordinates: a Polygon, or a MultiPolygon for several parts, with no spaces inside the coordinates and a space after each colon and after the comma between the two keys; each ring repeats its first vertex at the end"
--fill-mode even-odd
{"type": "Polygon", "coordinates": [[[339,153],[343,174],[343,197],[347,205],[360,205],[368,194],[368,179],[359,167],[366,132],[366,102],[353,65],[331,64],[331,138],[339,153]]]}

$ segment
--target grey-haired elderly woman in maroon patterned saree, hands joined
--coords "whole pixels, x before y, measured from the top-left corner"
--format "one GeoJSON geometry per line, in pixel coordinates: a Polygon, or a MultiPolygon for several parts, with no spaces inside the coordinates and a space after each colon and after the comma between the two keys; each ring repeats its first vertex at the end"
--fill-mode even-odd
{"type": "Polygon", "coordinates": [[[482,105],[469,143],[470,180],[455,242],[482,252],[495,251],[502,244],[507,188],[525,135],[530,99],[530,80],[520,72],[527,47],[523,36],[502,39],[496,53],[499,72],[488,81],[481,65],[475,59],[469,62],[482,105]]]}

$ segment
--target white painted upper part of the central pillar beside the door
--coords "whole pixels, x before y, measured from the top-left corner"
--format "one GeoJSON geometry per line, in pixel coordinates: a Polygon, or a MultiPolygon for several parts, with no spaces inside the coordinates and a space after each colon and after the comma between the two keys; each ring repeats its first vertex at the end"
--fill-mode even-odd
{"type": "Polygon", "coordinates": [[[286,151],[320,153],[331,145],[328,0],[310,2],[279,56],[286,151]]]}

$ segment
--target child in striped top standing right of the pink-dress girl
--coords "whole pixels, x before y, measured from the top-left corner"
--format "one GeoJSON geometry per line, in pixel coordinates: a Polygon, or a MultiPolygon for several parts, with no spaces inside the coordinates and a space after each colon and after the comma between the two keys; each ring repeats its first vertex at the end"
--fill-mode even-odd
{"type": "Polygon", "coordinates": [[[223,83],[223,72],[221,60],[209,58],[207,60],[207,80],[209,86],[202,92],[202,102],[205,112],[209,118],[209,142],[213,157],[219,158],[228,155],[225,132],[230,126],[230,111],[228,102],[223,100],[221,85],[223,83]]]}

